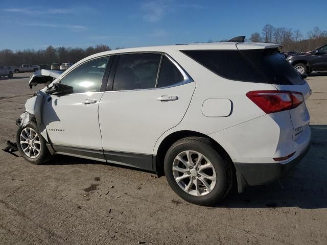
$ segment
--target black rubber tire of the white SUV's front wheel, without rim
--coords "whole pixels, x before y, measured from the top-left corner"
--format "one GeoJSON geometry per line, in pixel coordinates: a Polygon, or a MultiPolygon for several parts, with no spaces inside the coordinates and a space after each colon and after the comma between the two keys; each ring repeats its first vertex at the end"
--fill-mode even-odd
{"type": "Polygon", "coordinates": [[[36,123],[33,121],[30,121],[26,126],[21,127],[19,126],[17,133],[16,133],[16,141],[17,141],[17,146],[18,146],[18,151],[21,154],[21,156],[27,160],[30,163],[33,164],[42,164],[48,160],[50,160],[51,155],[48,151],[48,148],[46,148],[46,144],[45,144],[45,139],[42,137],[42,135],[40,134],[39,130],[37,129],[36,123]],[[39,155],[35,158],[31,158],[28,157],[22,150],[22,146],[20,144],[20,134],[21,132],[26,129],[26,128],[31,128],[33,129],[37,135],[39,136],[40,139],[40,151],[39,151],[39,155]]]}

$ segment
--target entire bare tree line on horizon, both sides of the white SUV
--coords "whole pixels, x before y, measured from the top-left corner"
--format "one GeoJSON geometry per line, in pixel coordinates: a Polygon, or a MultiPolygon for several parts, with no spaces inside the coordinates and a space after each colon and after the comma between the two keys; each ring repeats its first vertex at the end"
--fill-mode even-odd
{"type": "MultiPolygon", "coordinates": [[[[227,41],[220,40],[219,42],[227,41]]],[[[273,27],[266,24],[261,33],[254,32],[251,34],[249,41],[251,42],[269,42],[282,44],[282,51],[307,52],[315,50],[315,48],[327,43],[327,31],[321,31],[315,27],[307,33],[305,37],[300,30],[292,30],[285,27],[273,27]]],[[[209,40],[208,42],[213,42],[209,40]]],[[[116,49],[118,49],[117,47],[116,49]]],[[[45,50],[12,50],[0,51],[0,64],[3,65],[20,65],[28,64],[52,64],[77,61],[99,52],[109,51],[108,45],[89,46],[87,48],[72,47],[53,47],[49,46],[45,50]]]]}

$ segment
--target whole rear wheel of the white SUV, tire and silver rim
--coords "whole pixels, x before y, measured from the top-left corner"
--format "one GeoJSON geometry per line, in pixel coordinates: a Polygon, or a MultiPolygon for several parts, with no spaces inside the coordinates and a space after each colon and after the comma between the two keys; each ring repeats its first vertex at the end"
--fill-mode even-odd
{"type": "Polygon", "coordinates": [[[164,169],[171,188],[185,201],[211,205],[221,200],[232,185],[232,170],[211,140],[188,137],[168,150],[164,169]]]}

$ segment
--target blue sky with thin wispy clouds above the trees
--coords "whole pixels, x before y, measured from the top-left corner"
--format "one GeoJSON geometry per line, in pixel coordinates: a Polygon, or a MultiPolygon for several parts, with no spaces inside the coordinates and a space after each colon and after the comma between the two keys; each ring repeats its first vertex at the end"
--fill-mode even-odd
{"type": "Polygon", "coordinates": [[[249,37],[267,23],[305,35],[316,26],[327,30],[326,0],[0,0],[0,6],[0,50],[205,42],[249,37]]]}

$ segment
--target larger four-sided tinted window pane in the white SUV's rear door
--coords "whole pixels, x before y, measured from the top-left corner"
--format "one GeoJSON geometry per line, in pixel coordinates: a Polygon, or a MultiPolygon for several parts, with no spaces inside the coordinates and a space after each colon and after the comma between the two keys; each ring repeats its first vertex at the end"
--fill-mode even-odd
{"type": "Polygon", "coordinates": [[[155,88],[161,54],[121,55],[116,68],[113,90],[155,88]]]}

